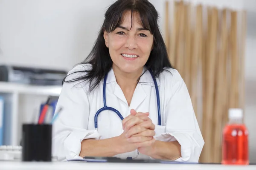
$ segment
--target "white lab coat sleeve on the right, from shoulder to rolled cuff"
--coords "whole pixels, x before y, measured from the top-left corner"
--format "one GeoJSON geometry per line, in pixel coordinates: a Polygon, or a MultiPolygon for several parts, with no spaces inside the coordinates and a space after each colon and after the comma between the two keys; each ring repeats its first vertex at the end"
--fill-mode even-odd
{"type": "Polygon", "coordinates": [[[165,79],[165,126],[156,127],[156,140],[179,142],[181,158],[176,161],[198,162],[204,139],[198,126],[189,92],[180,74],[175,70],[165,79]],[[170,81],[172,80],[172,81],[170,81]],[[172,82],[172,83],[170,83],[172,82]]]}

